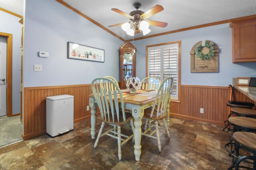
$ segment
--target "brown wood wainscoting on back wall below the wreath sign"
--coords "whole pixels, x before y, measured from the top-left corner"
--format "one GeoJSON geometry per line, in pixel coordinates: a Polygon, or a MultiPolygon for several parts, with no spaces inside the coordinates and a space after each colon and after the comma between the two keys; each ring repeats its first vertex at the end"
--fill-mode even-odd
{"type": "MultiPolygon", "coordinates": [[[[170,102],[170,115],[223,125],[228,118],[226,103],[230,89],[222,86],[181,85],[181,101],[170,102]],[[200,108],[204,113],[200,113],[200,108]]],[[[233,91],[233,100],[253,102],[238,90],[233,91]]],[[[255,107],[254,107],[255,109],[255,107]]]]}

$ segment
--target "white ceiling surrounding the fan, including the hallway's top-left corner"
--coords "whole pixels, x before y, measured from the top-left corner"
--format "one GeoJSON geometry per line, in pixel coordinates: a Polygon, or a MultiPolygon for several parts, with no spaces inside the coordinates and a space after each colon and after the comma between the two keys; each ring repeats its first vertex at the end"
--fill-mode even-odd
{"type": "MultiPolygon", "coordinates": [[[[192,27],[205,23],[228,20],[256,14],[256,0],[63,0],[94,21],[100,23],[123,39],[132,39],[121,26],[108,27],[117,23],[130,21],[111,8],[129,14],[135,10],[133,4],[140,2],[140,10],[146,12],[159,4],[164,7],[162,12],[148,18],[149,20],[167,22],[165,28],[150,26],[152,30],[147,35],[154,35],[192,27]]],[[[0,7],[22,15],[23,0],[0,0],[0,7]]],[[[134,38],[143,37],[142,33],[134,38]]]]}

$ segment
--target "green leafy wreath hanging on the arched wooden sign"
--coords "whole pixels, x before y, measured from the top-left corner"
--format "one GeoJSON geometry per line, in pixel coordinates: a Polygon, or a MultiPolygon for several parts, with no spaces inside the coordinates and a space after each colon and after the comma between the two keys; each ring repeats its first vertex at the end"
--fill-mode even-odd
{"type": "Polygon", "coordinates": [[[214,57],[214,46],[212,43],[209,43],[208,41],[205,41],[205,47],[207,47],[210,51],[207,54],[203,54],[201,52],[201,48],[202,48],[202,44],[199,44],[196,49],[195,49],[195,53],[197,55],[197,57],[199,57],[201,60],[211,60],[212,57],[214,57]]]}

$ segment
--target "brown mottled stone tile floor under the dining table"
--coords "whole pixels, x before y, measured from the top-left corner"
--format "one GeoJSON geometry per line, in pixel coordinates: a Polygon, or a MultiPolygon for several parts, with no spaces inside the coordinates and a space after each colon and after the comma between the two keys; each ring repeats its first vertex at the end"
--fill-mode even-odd
{"type": "MultiPolygon", "coordinates": [[[[232,158],[224,149],[229,138],[222,126],[175,117],[170,124],[171,139],[160,128],[162,152],[156,139],[142,136],[140,161],[135,160],[132,140],[122,146],[121,161],[114,138],[101,137],[94,149],[87,119],[74,124],[74,131],[66,135],[42,135],[0,148],[0,170],[222,170],[230,166],[232,158]]],[[[97,122],[97,133],[100,125],[97,122]]],[[[104,131],[110,128],[105,125],[104,131]]],[[[131,133],[129,124],[121,127],[121,133],[131,133]]]]}

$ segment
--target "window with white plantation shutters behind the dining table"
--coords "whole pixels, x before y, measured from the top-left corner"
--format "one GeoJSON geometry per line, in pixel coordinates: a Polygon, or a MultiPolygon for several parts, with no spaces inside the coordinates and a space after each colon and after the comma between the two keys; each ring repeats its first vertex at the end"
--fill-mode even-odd
{"type": "Polygon", "coordinates": [[[179,93],[179,42],[147,46],[147,72],[149,77],[157,77],[163,81],[173,77],[171,99],[178,100],[179,93]]]}

